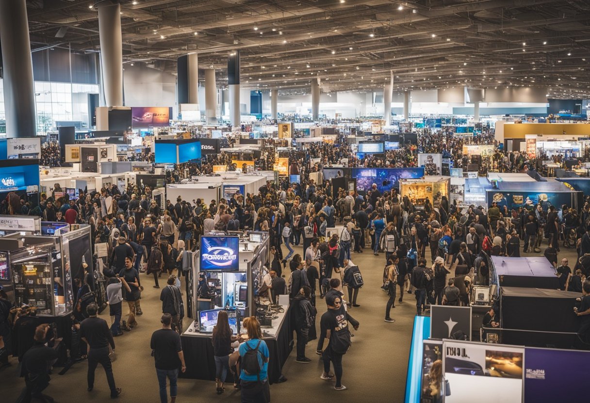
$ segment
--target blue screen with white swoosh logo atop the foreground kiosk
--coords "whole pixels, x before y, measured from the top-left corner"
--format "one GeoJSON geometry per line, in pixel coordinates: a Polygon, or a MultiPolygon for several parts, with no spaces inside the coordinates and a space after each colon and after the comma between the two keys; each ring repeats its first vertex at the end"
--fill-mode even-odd
{"type": "Polygon", "coordinates": [[[223,270],[227,272],[240,269],[237,236],[202,236],[201,270],[223,270]]]}

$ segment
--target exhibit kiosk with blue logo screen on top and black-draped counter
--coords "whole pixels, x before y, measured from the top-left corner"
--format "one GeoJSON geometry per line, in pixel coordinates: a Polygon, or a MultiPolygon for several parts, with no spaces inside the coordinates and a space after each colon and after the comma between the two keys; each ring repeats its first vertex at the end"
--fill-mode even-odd
{"type": "MultiPolygon", "coordinates": [[[[201,249],[193,253],[194,321],[181,335],[186,360],[186,371],[179,372],[181,378],[215,379],[211,336],[221,310],[227,310],[234,335],[241,333],[243,318],[260,318],[270,351],[268,379],[273,383],[280,378],[293,348],[293,332],[289,296],[279,296],[279,305],[270,305],[269,300],[258,296],[269,253],[267,232],[212,232],[201,237],[201,249]]],[[[231,374],[228,378],[231,381],[231,374]]]]}

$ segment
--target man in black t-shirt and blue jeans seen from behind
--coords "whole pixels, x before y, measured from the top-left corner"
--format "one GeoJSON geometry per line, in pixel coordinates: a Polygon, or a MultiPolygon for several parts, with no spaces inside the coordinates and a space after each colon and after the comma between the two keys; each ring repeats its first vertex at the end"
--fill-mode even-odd
{"type": "Polygon", "coordinates": [[[150,340],[150,348],[152,349],[160,387],[160,403],[168,402],[166,378],[170,380],[170,401],[175,403],[178,367],[181,367],[182,372],[186,371],[181,336],[172,330],[172,316],[169,313],[164,313],[160,322],[162,322],[162,329],[153,332],[150,340]]]}

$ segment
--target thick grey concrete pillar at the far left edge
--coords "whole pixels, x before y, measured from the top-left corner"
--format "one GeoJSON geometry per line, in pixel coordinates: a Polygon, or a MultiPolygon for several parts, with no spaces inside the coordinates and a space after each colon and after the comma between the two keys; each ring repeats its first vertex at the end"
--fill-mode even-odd
{"type": "Polygon", "coordinates": [[[6,137],[37,134],[35,85],[25,0],[0,0],[6,137]]]}

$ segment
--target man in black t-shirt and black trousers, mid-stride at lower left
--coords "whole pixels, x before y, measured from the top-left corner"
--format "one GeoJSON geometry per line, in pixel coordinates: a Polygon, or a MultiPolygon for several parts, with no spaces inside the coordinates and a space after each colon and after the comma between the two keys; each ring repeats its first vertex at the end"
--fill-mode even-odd
{"type": "Polygon", "coordinates": [[[110,361],[110,348],[114,352],[113,333],[104,319],[99,318],[99,307],[91,303],[86,307],[89,318],[80,323],[80,337],[88,346],[88,391],[94,388],[94,371],[97,365],[102,365],[109,383],[110,396],[116,398],[121,394],[121,388],[114,383],[113,366],[110,361]]]}

